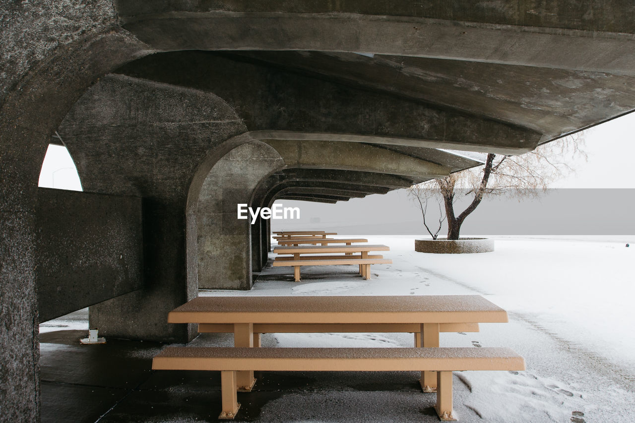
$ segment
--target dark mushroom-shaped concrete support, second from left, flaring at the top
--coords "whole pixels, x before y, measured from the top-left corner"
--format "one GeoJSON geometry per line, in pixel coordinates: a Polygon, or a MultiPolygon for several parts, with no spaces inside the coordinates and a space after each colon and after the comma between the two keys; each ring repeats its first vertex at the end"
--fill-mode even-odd
{"type": "Polygon", "coordinates": [[[199,90],[106,76],[58,128],[86,191],[140,196],[144,287],[91,307],[107,337],[184,342],[171,309],[196,296],[188,283],[185,205],[203,158],[244,126],[222,98],[199,90]]]}

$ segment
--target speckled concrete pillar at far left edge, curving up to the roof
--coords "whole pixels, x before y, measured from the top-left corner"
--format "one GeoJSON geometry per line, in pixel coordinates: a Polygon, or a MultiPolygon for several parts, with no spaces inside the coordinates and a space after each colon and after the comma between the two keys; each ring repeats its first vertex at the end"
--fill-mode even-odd
{"type": "Polygon", "coordinates": [[[0,421],[39,421],[36,192],[50,135],[88,85],[147,54],[110,0],[0,4],[0,421]]]}

